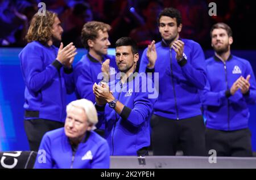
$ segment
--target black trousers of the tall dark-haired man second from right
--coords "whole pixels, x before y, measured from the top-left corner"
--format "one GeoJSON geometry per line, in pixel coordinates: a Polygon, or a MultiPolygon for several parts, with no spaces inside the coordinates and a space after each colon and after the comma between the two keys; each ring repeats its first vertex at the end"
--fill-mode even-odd
{"type": "Polygon", "coordinates": [[[151,128],[154,156],[175,156],[178,147],[184,156],[206,156],[201,115],[180,120],[152,115],[151,128]]]}

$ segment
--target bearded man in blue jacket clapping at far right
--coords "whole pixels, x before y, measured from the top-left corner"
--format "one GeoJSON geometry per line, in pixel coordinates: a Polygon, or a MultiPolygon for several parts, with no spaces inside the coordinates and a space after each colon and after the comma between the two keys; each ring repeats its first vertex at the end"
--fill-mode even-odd
{"type": "Polygon", "coordinates": [[[217,156],[252,156],[248,105],[256,101],[253,69],[246,59],[230,53],[233,38],[227,24],[214,24],[210,37],[215,54],[207,59],[208,83],[202,96],[207,150],[216,150],[217,156]]]}

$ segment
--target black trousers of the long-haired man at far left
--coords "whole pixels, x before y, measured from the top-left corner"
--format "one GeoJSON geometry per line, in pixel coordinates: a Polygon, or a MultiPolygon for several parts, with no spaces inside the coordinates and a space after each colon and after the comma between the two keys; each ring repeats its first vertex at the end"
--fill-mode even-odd
{"type": "Polygon", "coordinates": [[[24,128],[27,134],[30,151],[38,151],[43,135],[47,131],[64,127],[64,123],[46,119],[24,120],[24,128]]]}

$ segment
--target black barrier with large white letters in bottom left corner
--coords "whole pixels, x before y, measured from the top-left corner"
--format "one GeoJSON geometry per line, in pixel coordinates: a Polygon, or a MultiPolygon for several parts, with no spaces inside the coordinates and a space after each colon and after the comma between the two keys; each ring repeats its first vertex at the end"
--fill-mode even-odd
{"type": "Polygon", "coordinates": [[[36,155],[35,151],[0,152],[0,169],[32,169],[36,155]]]}

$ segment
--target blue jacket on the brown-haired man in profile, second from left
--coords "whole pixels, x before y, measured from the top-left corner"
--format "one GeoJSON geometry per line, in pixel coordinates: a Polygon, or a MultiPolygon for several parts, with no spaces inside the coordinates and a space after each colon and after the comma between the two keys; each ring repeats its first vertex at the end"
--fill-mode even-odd
{"type": "MultiPolygon", "coordinates": [[[[114,76],[119,72],[117,64],[115,63],[115,56],[104,55],[102,63],[105,62],[106,59],[110,59],[110,75],[114,76]]],[[[89,53],[83,55],[80,61],[76,64],[73,75],[77,98],[86,98],[94,103],[95,96],[93,94],[93,84],[98,84],[102,80],[101,63],[89,53]]]]}

